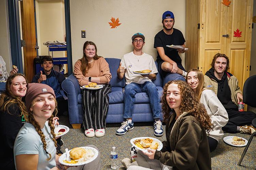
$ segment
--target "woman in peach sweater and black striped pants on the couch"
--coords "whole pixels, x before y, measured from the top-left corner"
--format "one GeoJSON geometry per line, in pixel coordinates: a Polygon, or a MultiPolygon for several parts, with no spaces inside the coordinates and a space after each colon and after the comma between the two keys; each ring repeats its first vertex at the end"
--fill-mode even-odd
{"type": "Polygon", "coordinates": [[[74,75],[79,85],[89,85],[92,82],[104,84],[102,89],[82,89],[82,105],[84,110],[83,123],[85,136],[101,137],[105,135],[106,116],[108,113],[111,91],[109,83],[111,74],[109,64],[97,55],[97,48],[92,41],[83,44],[83,57],[75,63],[74,75]]]}

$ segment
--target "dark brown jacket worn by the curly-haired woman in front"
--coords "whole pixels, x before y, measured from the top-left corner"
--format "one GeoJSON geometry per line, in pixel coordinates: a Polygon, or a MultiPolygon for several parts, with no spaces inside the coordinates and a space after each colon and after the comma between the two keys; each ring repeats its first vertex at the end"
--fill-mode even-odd
{"type": "MultiPolygon", "coordinates": [[[[176,117],[172,114],[170,122],[176,117]]],[[[167,132],[167,128],[165,128],[167,132]]],[[[168,148],[167,142],[163,142],[163,149],[168,148]]],[[[171,150],[156,151],[154,159],[159,159],[164,165],[173,169],[211,169],[210,149],[205,129],[200,122],[189,113],[185,112],[176,120],[170,135],[171,150]]]]}

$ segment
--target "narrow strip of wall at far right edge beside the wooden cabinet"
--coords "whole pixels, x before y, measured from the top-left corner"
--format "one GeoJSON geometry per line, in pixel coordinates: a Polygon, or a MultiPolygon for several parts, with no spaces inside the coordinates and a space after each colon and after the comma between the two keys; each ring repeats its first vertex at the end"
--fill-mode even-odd
{"type": "MultiPolygon", "coordinates": [[[[253,16],[256,16],[256,0],[253,1],[253,16]]],[[[251,63],[250,76],[256,74],[256,23],[252,29],[251,63]]]]}

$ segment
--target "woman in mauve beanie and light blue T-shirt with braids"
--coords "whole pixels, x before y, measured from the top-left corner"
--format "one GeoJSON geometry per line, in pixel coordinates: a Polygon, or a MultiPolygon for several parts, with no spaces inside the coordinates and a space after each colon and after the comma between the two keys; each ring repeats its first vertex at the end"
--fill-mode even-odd
{"type": "MultiPolygon", "coordinates": [[[[53,89],[46,84],[29,83],[26,107],[28,122],[20,129],[14,143],[16,169],[67,169],[68,166],[59,163],[59,155],[56,154],[57,141],[52,121],[53,113],[57,113],[58,110],[53,89]]],[[[94,169],[100,169],[99,155],[93,161],[94,164],[96,161],[99,167],[94,169]]],[[[74,169],[83,169],[86,166],[74,169]]]]}

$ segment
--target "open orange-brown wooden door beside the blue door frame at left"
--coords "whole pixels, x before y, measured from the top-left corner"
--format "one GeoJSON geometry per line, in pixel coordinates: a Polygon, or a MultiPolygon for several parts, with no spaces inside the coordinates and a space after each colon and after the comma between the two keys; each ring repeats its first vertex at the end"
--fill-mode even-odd
{"type": "Polygon", "coordinates": [[[36,57],[35,14],[34,0],[20,1],[22,36],[26,42],[23,47],[24,70],[28,81],[31,82],[35,75],[34,58],[36,57]]]}

